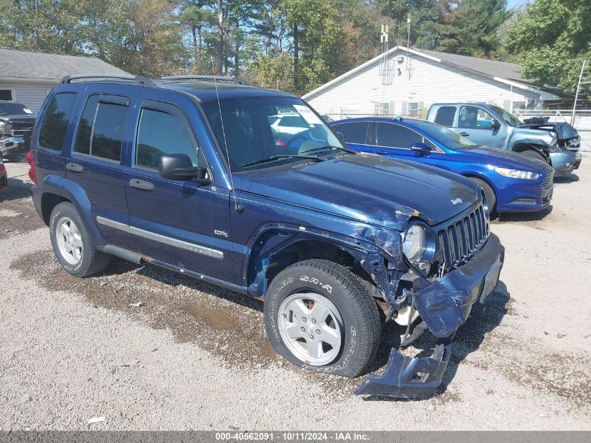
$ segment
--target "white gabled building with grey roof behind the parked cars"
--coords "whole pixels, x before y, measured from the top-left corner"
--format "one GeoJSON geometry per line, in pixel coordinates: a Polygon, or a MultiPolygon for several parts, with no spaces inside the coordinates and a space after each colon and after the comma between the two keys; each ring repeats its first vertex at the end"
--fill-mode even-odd
{"type": "Polygon", "coordinates": [[[532,85],[518,64],[397,46],[302,98],[332,118],[425,117],[437,102],[496,104],[507,111],[541,108],[564,94],[532,85]]]}

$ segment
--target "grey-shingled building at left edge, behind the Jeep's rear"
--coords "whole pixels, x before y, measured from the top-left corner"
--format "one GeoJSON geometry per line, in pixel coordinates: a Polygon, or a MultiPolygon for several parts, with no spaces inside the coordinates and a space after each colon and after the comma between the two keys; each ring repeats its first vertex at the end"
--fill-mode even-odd
{"type": "Polygon", "coordinates": [[[38,112],[62,77],[81,73],[127,74],[97,57],[0,48],[0,100],[18,101],[38,112]]]}

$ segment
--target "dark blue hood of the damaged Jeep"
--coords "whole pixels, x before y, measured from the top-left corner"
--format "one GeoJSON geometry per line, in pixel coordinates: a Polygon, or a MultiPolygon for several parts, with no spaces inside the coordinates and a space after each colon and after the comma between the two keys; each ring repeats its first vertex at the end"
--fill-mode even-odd
{"type": "Polygon", "coordinates": [[[478,199],[478,188],[467,178],[380,155],[346,155],[240,176],[236,188],[243,192],[396,230],[412,216],[441,223],[478,199]]]}

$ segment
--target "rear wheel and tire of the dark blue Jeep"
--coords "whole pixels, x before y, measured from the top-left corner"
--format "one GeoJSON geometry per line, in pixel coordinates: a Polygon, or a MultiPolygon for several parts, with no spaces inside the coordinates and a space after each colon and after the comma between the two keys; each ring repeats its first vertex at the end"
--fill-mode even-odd
{"type": "Polygon", "coordinates": [[[97,249],[73,204],[63,202],[55,206],[49,232],[55,257],[70,274],[83,277],[107,267],[111,255],[97,249]]]}

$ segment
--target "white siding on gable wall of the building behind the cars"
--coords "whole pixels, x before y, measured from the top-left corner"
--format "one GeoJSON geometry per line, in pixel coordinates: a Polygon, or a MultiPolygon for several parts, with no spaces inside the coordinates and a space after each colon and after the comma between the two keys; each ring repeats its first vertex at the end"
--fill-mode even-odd
{"type": "Polygon", "coordinates": [[[339,118],[343,103],[359,104],[360,111],[365,115],[373,115],[378,110],[378,104],[387,102],[394,104],[393,109],[389,106],[390,115],[408,115],[409,104],[417,103],[417,115],[425,118],[429,106],[438,102],[492,102],[509,110],[512,101],[540,99],[536,92],[421,55],[409,55],[409,69],[406,69],[406,52],[391,54],[389,58],[397,59],[399,56],[404,57],[404,63],[396,63],[401,72],[394,73],[392,84],[383,85],[379,62],[376,61],[307,96],[306,101],[319,113],[333,118],[339,118]]]}

